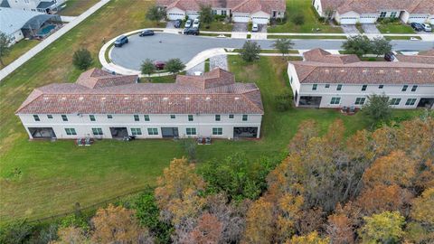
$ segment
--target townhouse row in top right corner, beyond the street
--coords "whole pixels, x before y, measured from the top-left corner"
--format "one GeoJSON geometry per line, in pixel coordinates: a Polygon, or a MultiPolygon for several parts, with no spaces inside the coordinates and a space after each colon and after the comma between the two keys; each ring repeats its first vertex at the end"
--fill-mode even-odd
{"type": "Polygon", "coordinates": [[[320,16],[331,14],[341,24],[376,23],[381,18],[434,24],[434,1],[430,0],[313,0],[312,5],[320,16]]]}

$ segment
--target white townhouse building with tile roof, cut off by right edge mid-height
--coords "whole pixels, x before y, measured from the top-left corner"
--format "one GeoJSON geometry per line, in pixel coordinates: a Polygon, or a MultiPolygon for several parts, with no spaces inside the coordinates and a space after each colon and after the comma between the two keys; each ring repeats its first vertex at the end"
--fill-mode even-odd
{"type": "Polygon", "coordinates": [[[386,95],[393,108],[433,108],[434,65],[360,61],[321,49],[290,61],[288,78],[297,107],[361,108],[368,96],[386,95]]]}

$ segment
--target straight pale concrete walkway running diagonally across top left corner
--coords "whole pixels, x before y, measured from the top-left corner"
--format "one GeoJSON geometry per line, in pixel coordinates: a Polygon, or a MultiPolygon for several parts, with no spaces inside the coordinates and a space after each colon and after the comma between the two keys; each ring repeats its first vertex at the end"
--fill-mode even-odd
{"type": "Polygon", "coordinates": [[[28,52],[25,52],[21,57],[17,60],[13,61],[11,64],[7,65],[3,70],[0,70],[0,80],[4,80],[6,76],[14,72],[14,70],[18,69],[24,62],[32,59],[36,54],[44,50],[48,45],[52,42],[59,39],[63,34],[68,33],[72,28],[77,26],[79,23],[88,18],[91,14],[95,13],[99,8],[103,5],[109,3],[110,0],[100,0],[96,5],[93,5],[83,14],[80,14],[77,18],[73,19],[71,23],[65,24],[60,30],[55,33],[52,33],[49,37],[43,40],[41,43],[34,46],[28,52]]]}

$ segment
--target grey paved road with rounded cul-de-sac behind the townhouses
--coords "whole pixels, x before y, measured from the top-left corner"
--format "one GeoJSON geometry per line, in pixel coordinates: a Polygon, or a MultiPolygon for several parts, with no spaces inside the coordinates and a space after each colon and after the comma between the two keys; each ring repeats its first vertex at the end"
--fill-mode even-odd
{"type": "MultiPolygon", "coordinates": [[[[185,63],[199,53],[212,48],[241,48],[246,42],[243,39],[210,38],[201,36],[185,36],[171,33],[156,33],[154,36],[139,37],[137,34],[129,37],[129,43],[122,48],[114,48],[111,60],[120,66],[131,70],[140,70],[140,64],[146,59],[167,61],[179,58],[185,63]],[[161,42],[160,42],[161,41],[161,42]]],[[[272,40],[255,40],[262,49],[271,49],[272,40]]],[[[308,50],[322,48],[325,50],[341,49],[341,40],[294,40],[294,48],[308,50]]],[[[429,50],[433,42],[394,41],[394,50],[419,51],[429,50]]]]}

